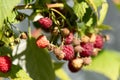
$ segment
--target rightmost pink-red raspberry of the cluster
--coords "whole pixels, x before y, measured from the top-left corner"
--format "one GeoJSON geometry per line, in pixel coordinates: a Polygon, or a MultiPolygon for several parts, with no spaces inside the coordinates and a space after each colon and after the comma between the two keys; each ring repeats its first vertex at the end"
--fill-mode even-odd
{"type": "Polygon", "coordinates": [[[94,42],[94,47],[101,49],[103,47],[103,44],[104,44],[104,41],[103,41],[102,35],[97,35],[96,40],[94,42]]]}

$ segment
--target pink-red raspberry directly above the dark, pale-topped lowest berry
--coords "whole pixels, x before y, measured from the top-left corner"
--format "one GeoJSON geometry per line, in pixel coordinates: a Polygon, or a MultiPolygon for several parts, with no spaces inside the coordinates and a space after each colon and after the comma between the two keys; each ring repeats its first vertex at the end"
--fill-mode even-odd
{"type": "Polygon", "coordinates": [[[72,45],[62,46],[62,51],[65,53],[64,60],[71,60],[74,57],[74,49],[72,45]]]}

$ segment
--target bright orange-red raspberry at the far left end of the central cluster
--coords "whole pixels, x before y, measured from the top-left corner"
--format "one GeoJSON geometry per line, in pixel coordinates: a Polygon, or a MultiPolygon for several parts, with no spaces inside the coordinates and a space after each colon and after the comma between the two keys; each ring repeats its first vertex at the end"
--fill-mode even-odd
{"type": "Polygon", "coordinates": [[[49,41],[47,40],[46,36],[40,35],[36,40],[36,44],[39,48],[45,48],[49,45],[49,41]]]}

